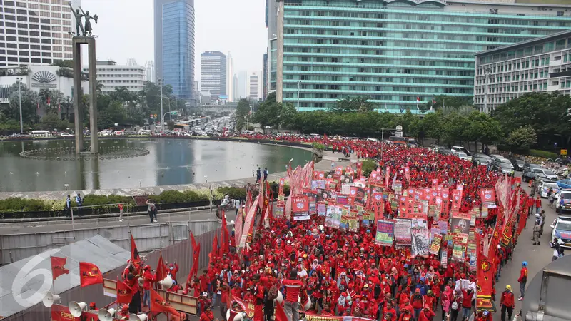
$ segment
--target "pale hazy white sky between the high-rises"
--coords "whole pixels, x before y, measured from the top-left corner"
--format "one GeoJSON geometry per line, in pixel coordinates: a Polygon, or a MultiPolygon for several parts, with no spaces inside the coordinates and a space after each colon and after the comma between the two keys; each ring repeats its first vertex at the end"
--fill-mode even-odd
{"type": "MultiPolygon", "coordinates": [[[[97,58],[144,65],[154,60],[153,0],[82,0],[81,7],[98,14],[93,24],[97,58]]],[[[268,31],[265,0],[194,0],[195,81],[200,80],[200,55],[222,51],[234,58],[234,73],[263,69],[268,31]]]]}

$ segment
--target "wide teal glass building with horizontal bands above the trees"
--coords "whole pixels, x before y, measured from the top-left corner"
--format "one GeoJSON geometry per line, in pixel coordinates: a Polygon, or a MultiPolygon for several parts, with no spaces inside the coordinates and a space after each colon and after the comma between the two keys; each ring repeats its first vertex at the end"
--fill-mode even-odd
{"type": "Polygon", "coordinates": [[[300,111],[369,96],[381,111],[415,113],[417,99],[473,96],[477,52],[569,29],[560,1],[285,0],[283,71],[270,83],[300,111]]]}

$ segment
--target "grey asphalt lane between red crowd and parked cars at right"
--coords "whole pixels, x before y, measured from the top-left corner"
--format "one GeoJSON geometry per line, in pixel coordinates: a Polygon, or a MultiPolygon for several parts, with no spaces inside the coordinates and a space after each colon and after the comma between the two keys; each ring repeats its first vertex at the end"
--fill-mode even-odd
{"type": "MultiPolygon", "coordinates": [[[[522,183],[522,186],[527,193],[530,193],[531,188],[528,187],[527,183],[522,183]]],[[[535,194],[535,198],[537,198],[537,193],[535,194]]],[[[512,286],[512,292],[516,298],[514,314],[521,309],[522,302],[517,301],[517,297],[520,296],[520,283],[517,282],[517,279],[520,277],[522,262],[527,261],[528,285],[537,273],[541,272],[546,265],[551,263],[553,250],[549,246],[551,240],[550,225],[553,220],[557,218],[557,213],[555,213],[555,209],[549,207],[549,201],[545,198],[542,198],[542,209],[545,210],[545,225],[543,227],[543,235],[540,238],[541,245],[533,245],[532,238],[535,215],[530,215],[530,218],[527,219],[525,229],[517,240],[517,245],[512,254],[512,261],[508,262],[502,269],[500,280],[495,285],[495,304],[497,312],[494,315],[494,320],[501,320],[500,298],[506,285],[512,286]]]]}

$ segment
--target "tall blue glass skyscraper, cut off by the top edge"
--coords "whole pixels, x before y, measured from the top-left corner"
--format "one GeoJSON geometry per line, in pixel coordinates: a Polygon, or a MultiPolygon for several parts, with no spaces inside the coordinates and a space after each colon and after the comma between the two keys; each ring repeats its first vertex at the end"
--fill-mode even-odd
{"type": "MultiPolygon", "coordinates": [[[[160,42],[155,34],[155,56],[161,51],[157,78],[173,87],[177,98],[193,101],[194,86],[194,3],[193,0],[156,0],[160,3],[160,42]],[[158,46],[158,48],[157,48],[158,46]]],[[[157,26],[155,26],[157,28],[157,26]]]]}

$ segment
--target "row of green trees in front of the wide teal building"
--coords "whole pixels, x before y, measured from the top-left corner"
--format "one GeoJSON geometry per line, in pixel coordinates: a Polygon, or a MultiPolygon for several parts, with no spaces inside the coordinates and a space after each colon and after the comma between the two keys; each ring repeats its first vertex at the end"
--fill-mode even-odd
{"type": "Polygon", "coordinates": [[[271,93],[253,115],[261,126],[291,128],[303,133],[380,138],[400,125],[408,136],[433,138],[435,143],[503,143],[513,148],[571,143],[571,97],[560,93],[530,93],[499,106],[491,114],[480,113],[466,98],[437,96],[423,108],[422,117],[378,112],[368,98],[346,98],[331,111],[296,112],[293,105],[276,102],[271,93]]]}

